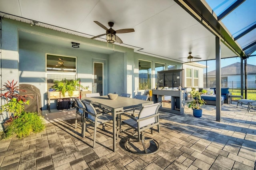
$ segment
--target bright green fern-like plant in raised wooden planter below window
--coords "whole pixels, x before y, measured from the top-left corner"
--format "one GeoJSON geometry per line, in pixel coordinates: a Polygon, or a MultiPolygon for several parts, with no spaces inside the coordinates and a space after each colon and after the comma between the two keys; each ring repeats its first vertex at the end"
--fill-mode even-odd
{"type": "Polygon", "coordinates": [[[72,96],[73,91],[76,91],[77,87],[79,86],[82,87],[79,84],[79,79],[78,80],[62,79],[61,81],[55,80],[52,88],[62,93],[62,95],[65,97],[66,92],[68,92],[69,96],[72,96]]]}

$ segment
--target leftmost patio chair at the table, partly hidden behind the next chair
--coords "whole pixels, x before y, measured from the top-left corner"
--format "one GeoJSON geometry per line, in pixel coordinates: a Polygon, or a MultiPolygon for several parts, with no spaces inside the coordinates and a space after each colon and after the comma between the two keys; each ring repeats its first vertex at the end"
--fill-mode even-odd
{"type": "Polygon", "coordinates": [[[75,128],[77,127],[77,115],[81,116],[81,122],[82,122],[82,132],[81,132],[81,136],[84,137],[85,134],[85,124],[84,124],[84,115],[86,112],[86,108],[84,106],[84,104],[82,103],[82,101],[78,98],[74,98],[75,101],[75,107],[76,107],[76,121],[75,121],[75,128]]]}

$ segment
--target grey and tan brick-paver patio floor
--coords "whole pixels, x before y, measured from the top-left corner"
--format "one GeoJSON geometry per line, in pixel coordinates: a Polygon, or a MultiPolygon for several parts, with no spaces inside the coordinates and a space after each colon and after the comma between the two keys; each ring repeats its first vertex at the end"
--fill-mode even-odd
{"type": "MultiPolygon", "coordinates": [[[[112,152],[112,125],[98,130],[92,148],[88,138],[74,129],[75,109],[44,111],[46,130],[18,139],[1,140],[0,169],[246,169],[255,168],[256,112],[236,102],[222,106],[222,122],[216,122],[215,106],[204,105],[203,116],[195,118],[185,107],[184,115],[160,112],[160,142],[156,154],[140,156],[124,150],[118,138],[112,152]],[[60,119],[60,117],[62,117],[60,119]]],[[[122,134],[121,134],[122,135],[122,134]]]]}

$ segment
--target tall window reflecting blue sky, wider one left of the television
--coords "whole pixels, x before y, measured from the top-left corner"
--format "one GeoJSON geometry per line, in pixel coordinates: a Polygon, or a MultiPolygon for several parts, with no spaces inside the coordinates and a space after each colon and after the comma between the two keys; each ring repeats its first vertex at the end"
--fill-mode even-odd
{"type": "Polygon", "coordinates": [[[139,90],[151,89],[151,62],[139,60],[139,90]]]}

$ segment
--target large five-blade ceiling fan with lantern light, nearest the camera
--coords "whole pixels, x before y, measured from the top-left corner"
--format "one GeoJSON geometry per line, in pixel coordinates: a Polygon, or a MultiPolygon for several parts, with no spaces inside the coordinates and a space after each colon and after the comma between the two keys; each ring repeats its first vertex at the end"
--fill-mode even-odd
{"type": "Polygon", "coordinates": [[[98,36],[92,37],[91,39],[98,38],[101,36],[106,35],[106,40],[109,43],[114,43],[115,41],[118,43],[123,43],[122,40],[116,36],[116,34],[121,34],[121,33],[129,33],[129,32],[134,32],[133,28],[128,28],[128,29],[121,29],[121,30],[113,30],[112,27],[114,26],[114,22],[108,22],[108,26],[110,26],[110,29],[106,28],[103,24],[101,24],[98,21],[94,21],[98,26],[106,30],[106,34],[100,34],[98,36]]]}

